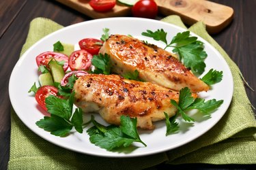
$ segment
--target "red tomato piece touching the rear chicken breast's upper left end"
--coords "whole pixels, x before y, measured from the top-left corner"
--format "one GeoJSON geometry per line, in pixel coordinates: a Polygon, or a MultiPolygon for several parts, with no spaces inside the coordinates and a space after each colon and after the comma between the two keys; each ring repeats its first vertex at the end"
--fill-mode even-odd
{"type": "Polygon", "coordinates": [[[103,43],[100,39],[85,38],[79,41],[79,46],[81,50],[87,50],[91,55],[95,55],[99,53],[103,43]]]}

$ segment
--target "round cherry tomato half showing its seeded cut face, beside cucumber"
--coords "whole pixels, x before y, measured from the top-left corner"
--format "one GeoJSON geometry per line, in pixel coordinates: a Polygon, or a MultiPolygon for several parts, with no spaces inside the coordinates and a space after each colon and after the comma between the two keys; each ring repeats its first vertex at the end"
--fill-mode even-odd
{"type": "Polygon", "coordinates": [[[77,50],[70,54],[68,65],[72,71],[88,70],[91,67],[92,55],[86,50],[77,50]]]}

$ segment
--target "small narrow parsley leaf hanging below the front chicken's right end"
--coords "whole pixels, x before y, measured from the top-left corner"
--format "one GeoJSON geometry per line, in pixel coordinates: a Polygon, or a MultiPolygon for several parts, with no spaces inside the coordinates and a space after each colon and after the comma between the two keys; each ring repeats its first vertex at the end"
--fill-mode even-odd
{"type": "Polygon", "coordinates": [[[171,118],[169,118],[169,115],[164,112],[165,114],[165,124],[167,126],[167,131],[165,133],[165,135],[171,135],[173,133],[177,133],[177,131],[179,131],[179,123],[175,122],[176,119],[176,114],[175,116],[172,116],[171,118]]]}

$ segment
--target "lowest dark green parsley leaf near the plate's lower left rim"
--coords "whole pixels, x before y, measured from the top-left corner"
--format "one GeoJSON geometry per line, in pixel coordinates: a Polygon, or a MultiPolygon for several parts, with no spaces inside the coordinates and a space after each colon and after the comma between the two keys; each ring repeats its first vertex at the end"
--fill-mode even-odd
{"type": "Polygon", "coordinates": [[[51,132],[52,135],[56,136],[65,136],[72,129],[72,124],[56,115],[51,115],[51,117],[44,116],[44,119],[35,122],[35,124],[44,129],[44,131],[51,132]]]}

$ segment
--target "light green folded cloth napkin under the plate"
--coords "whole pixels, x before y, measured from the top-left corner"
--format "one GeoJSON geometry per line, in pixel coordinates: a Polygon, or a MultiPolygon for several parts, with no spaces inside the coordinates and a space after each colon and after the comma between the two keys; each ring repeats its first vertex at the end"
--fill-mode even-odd
{"type": "MultiPolygon", "coordinates": [[[[162,19],[180,27],[178,16],[162,19]]],[[[62,26],[46,18],[31,21],[23,52],[42,37],[62,26]]],[[[256,163],[256,121],[246,96],[241,73],[231,58],[205,31],[203,22],[188,30],[196,33],[216,48],[227,61],[233,74],[234,92],[229,109],[210,131],[201,137],[160,154],[139,158],[102,158],[80,154],[55,146],[30,131],[12,109],[9,169],[145,169],[160,163],[185,164],[254,164],[256,163]]]]}

